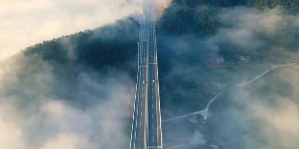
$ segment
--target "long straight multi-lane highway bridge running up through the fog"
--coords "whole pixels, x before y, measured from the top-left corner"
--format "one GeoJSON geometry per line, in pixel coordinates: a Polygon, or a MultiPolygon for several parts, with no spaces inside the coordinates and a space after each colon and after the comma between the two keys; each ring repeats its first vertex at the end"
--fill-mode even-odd
{"type": "Polygon", "coordinates": [[[144,8],[138,43],[138,75],[130,149],[163,149],[153,8],[144,8]]]}

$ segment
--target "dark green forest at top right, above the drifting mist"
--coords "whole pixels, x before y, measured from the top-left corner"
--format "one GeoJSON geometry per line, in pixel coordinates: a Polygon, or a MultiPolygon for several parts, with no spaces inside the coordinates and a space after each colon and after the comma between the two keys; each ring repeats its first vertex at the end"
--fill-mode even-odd
{"type": "Polygon", "coordinates": [[[158,22],[160,31],[172,34],[196,33],[210,35],[221,26],[217,13],[227,7],[254,7],[257,9],[283,7],[289,13],[298,13],[298,0],[173,0],[158,22]]]}

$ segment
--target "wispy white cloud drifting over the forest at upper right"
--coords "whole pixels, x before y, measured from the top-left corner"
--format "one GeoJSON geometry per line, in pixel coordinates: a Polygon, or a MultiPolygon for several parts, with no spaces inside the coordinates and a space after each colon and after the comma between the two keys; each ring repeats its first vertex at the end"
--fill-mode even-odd
{"type": "Polygon", "coordinates": [[[299,17],[289,15],[280,7],[258,10],[254,8],[223,8],[218,13],[222,25],[208,39],[210,44],[241,51],[289,50],[296,46],[295,35],[299,17]]]}

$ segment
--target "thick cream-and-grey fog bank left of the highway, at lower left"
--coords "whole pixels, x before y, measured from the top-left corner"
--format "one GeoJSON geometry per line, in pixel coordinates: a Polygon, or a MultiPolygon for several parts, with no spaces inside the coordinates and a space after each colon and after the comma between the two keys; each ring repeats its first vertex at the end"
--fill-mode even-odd
{"type": "Polygon", "coordinates": [[[19,54],[2,63],[1,149],[129,146],[135,84],[127,74],[81,70],[70,86],[35,56],[19,54]]]}

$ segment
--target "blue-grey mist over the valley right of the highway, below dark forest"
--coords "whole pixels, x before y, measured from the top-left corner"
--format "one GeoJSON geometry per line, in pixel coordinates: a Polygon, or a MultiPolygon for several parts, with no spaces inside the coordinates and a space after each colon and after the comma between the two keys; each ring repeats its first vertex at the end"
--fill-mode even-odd
{"type": "Polygon", "coordinates": [[[162,118],[203,110],[223,91],[210,105],[207,121],[198,115],[164,122],[165,147],[185,149],[200,132],[204,137],[197,142],[205,140],[206,148],[297,149],[298,66],[278,68],[245,87],[236,85],[262,74],[268,65],[298,59],[299,16],[280,7],[235,7],[217,8],[213,17],[220,25],[212,35],[157,36],[162,118]],[[275,56],[256,56],[260,51],[275,56]],[[242,63],[237,55],[252,59],[242,63]],[[215,56],[235,65],[209,69],[205,63],[215,56]]]}

